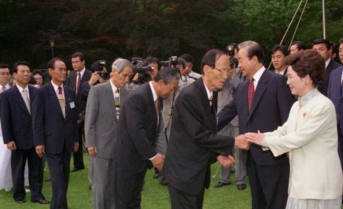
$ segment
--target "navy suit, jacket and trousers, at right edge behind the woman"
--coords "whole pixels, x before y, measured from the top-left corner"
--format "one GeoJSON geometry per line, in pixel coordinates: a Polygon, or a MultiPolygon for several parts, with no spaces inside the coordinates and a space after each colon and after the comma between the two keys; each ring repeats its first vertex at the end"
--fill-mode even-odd
{"type": "Polygon", "coordinates": [[[338,154],[340,155],[343,169],[343,93],[342,93],[342,71],[343,66],[331,72],[327,97],[335,105],[338,124],[338,154]]]}

